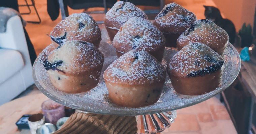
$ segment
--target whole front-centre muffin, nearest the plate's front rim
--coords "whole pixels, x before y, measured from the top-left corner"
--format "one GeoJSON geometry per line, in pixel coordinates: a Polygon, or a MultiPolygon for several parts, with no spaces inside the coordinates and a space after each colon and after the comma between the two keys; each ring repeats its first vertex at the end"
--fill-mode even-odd
{"type": "Polygon", "coordinates": [[[122,107],[143,107],[158,101],[165,81],[164,67],[146,51],[130,51],[104,72],[109,97],[122,107]]]}

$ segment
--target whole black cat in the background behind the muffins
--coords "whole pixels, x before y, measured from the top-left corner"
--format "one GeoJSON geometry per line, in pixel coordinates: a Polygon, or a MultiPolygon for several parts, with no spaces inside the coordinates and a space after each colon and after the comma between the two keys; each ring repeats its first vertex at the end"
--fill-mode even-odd
{"type": "Polygon", "coordinates": [[[214,23],[216,23],[219,27],[223,28],[229,36],[229,42],[234,43],[235,42],[235,25],[233,22],[229,19],[222,18],[220,14],[220,10],[213,6],[204,6],[204,16],[206,19],[212,20],[214,23]]]}

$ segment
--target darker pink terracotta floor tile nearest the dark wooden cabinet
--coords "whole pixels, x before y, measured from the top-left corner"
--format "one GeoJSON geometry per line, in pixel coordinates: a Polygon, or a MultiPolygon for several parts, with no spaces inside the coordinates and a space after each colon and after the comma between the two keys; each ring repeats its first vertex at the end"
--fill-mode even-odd
{"type": "Polygon", "coordinates": [[[230,120],[229,114],[223,105],[210,106],[214,120],[230,120]]]}

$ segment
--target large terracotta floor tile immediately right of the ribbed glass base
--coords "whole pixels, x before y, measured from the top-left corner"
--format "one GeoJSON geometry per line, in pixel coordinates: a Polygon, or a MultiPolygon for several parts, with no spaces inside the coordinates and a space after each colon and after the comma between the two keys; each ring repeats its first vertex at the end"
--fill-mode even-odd
{"type": "Polygon", "coordinates": [[[200,127],[195,114],[178,114],[168,130],[169,132],[199,131],[200,127]]]}

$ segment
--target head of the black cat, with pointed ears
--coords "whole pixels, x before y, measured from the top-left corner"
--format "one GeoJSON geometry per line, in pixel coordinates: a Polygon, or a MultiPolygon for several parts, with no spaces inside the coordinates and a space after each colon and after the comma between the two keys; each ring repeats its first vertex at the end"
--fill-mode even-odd
{"type": "Polygon", "coordinates": [[[204,10],[204,16],[206,19],[209,19],[213,22],[218,20],[221,17],[220,10],[213,6],[203,6],[205,8],[204,10]]]}

